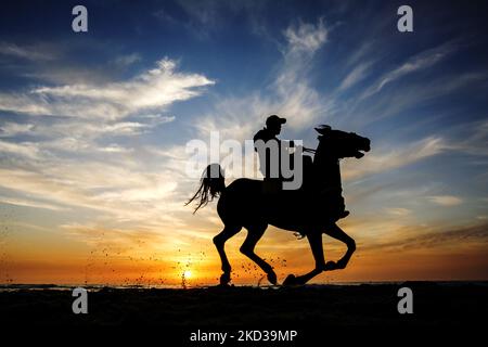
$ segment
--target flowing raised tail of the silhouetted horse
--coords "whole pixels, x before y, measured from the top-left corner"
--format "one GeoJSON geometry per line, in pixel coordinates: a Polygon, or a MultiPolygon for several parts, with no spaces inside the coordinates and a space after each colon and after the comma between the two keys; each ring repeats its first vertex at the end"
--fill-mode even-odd
{"type": "Polygon", "coordinates": [[[193,201],[197,201],[197,206],[195,210],[196,213],[198,208],[205,207],[208,202],[211,202],[214,197],[219,196],[223,190],[226,189],[226,182],[223,177],[223,170],[219,164],[210,164],[204,170],[202,175],[202,179],[200,181],[200,188],[196,191],[195,195],[188,201],[185,204],[189,205],[193,201]]]}

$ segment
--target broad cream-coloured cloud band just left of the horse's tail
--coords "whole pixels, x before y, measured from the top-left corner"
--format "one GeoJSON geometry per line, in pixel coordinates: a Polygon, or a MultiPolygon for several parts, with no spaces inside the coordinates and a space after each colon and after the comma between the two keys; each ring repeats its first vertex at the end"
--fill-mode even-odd
{"type": "MultiPolygon", "coordinates": [[[[171,172],[144,172],[103,163],[50,163],[31,164],[38,172],[2,168],[1,185],[15,192],[20,200],[27,201],[29,196],[51,205],[90,209],[111,223],[169,227],[175,221],[171,214],[184,208],[182,200],[174,200],[178,183],[171,172]],[[51,167],[52,163],[57,166],[51,167]]],[[[81,211],[78,218],[82,219],[81,211]]]]}

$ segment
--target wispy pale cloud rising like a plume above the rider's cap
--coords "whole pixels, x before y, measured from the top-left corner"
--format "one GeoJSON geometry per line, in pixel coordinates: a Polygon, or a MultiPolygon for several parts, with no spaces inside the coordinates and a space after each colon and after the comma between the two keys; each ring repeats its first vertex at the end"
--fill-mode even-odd
{"type": "Polygon", "coordinates": [[[311,59],[323,47],[328,29],[323,20],[317,24],[299,23],[284,30],[286,44],[282,49],[282,61],[271,76],[270,94],[252,90],[245,95],[219,99],[214,111],[200,118],[195,126],[201,136],[208,137],[210,130],[219,130],[222,137],[236,140],[249,139],[256,131],[256,124],[264,124],[266,117],[278,113],[285,116],[287,128],[299,131],[324,114],[331,107],[310,87],[308,73],[311,59]]]}

